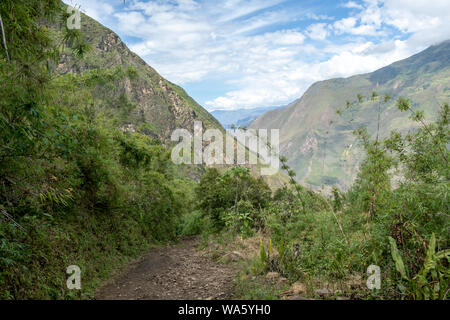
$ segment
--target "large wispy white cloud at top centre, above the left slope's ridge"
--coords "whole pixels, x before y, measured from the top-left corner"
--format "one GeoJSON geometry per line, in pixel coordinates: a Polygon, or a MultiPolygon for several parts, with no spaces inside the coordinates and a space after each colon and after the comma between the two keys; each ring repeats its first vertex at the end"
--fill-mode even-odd
{"type": "MultiPolygon", "coordinates": [[[[135,12],[116,14],[122,33],[144,41],[131,49],[143,56],[163,76],[179,84],[200,81],[215,74],[246,75],[270,70],[289,63],[305,40],[295,29],[246,35],[247,32],[289,18],[285,12],[269,11],[244,22],[237,17],[280,1],[222,1],[201,8],[163,2],[136,1],[131,9],[142,10],[146,21],[135,12]],[[219,12],[218,8],[234,8],[236,12],[219,12]],[[125,22],[131,21],[126,24],[125,22]],[[271,60],[271,66],[266,61],[271,60]]],[[[239,78],[240,76],[236,76],[239,78]]]]}

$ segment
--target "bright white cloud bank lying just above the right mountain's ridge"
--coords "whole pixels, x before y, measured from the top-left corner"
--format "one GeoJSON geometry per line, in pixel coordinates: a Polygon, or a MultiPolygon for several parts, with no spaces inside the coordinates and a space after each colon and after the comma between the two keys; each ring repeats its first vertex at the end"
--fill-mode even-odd
{"type": "Polygon", "coordinates": [[[390,50],[377,49],[378,46],[371,42],[342,48],[326,47],[324,51],[335,53],[326,61],[292,61],[289,68],[249,76],[239,82],[242,89],[208,101],[206,106],[211,109],[237,109],[287,104],[299,98],[316,81],[374,71],[410,54],[405,43],[399,40],[391,43],[390,50]]]}

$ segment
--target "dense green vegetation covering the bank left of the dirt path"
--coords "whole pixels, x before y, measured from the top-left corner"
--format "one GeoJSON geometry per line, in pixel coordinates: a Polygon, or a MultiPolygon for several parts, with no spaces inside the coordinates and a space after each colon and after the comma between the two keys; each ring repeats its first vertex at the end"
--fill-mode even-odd
{"type": "Polygon", "coordinates": [[[108,92],[134,68],[52,72],[60,50],[90,48],[73,30],[65,48],[53,40],[63,9],[0,4],[0,299],[90,298],[125,262],[176,240],[192,211],[193,182],[176,175],[169,150],[119,129],[136,105],[108,92]],[[69,265],[82,270],[80,291],[66,289],[69,265]]]}

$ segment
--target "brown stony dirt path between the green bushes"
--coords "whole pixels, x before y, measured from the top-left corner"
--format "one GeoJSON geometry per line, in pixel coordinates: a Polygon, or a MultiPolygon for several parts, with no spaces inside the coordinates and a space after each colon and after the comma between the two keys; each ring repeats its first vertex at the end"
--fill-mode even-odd
{"type": "Polygon", "coordinates": [[[232,298],[236,270],[197,252],[197,239],[151,250],[100,288],[98,300],[198,300],[232,298]]]}

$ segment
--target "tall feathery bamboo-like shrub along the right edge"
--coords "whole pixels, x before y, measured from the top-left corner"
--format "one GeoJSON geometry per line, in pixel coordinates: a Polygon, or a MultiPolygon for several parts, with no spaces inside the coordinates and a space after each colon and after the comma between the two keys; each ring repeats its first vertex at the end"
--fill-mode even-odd
{"type": "Polygon", "coordinates": [[[449,106],[432,123],[408,100],[397,105],[419,128],[404,136],[394,131],[384,141],[357,131],[366,159],[346,195],[346,212],[370,216],[366,260],[384,266],[387,297],[444,299],[450,283],[449,106]]]}

